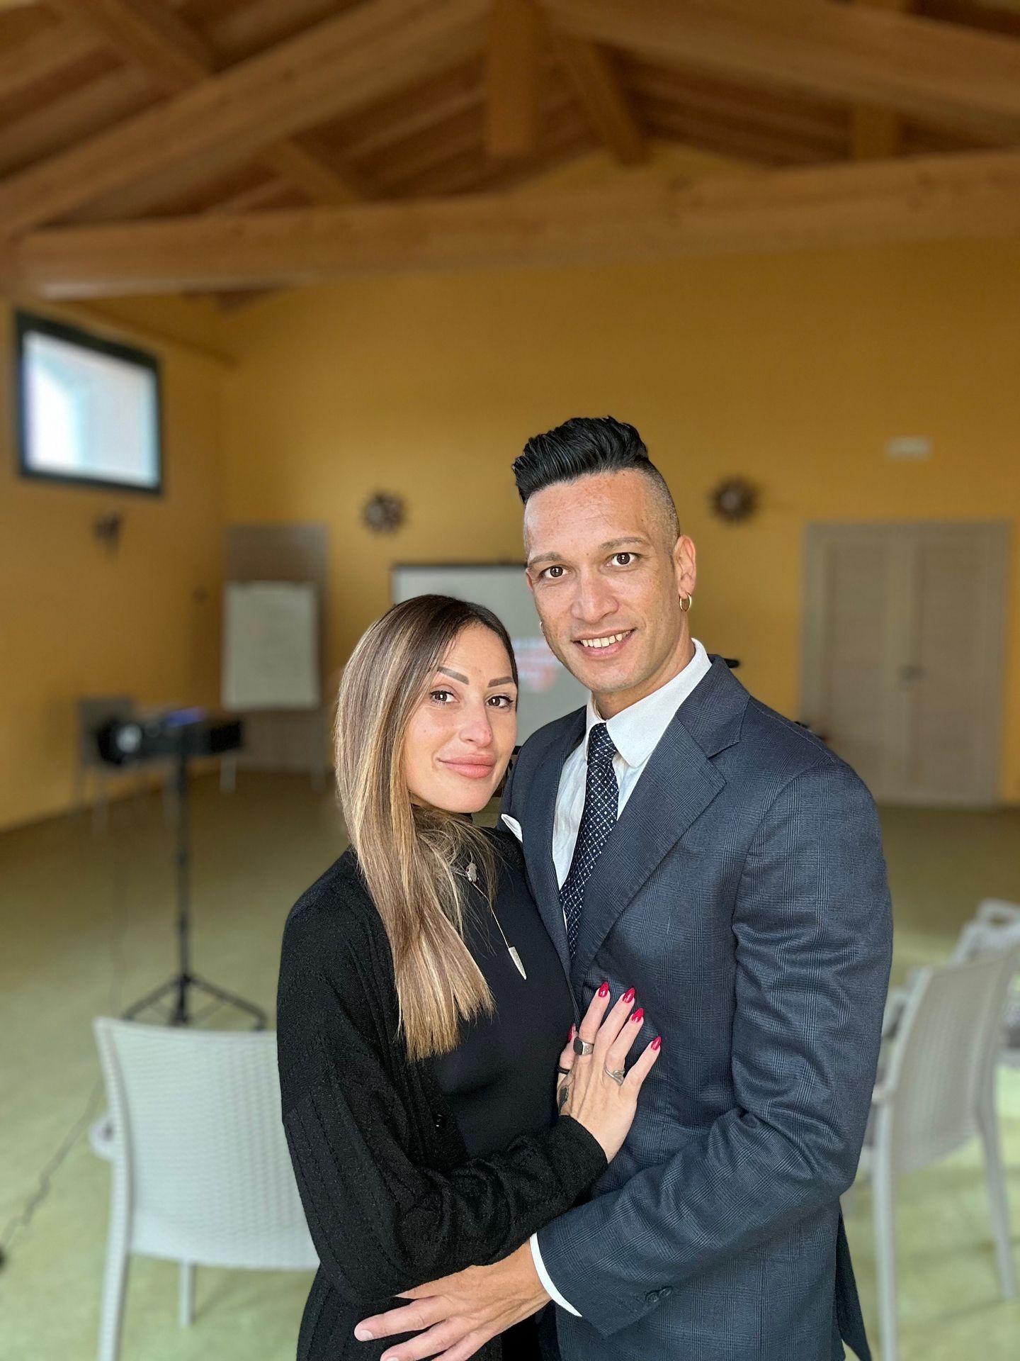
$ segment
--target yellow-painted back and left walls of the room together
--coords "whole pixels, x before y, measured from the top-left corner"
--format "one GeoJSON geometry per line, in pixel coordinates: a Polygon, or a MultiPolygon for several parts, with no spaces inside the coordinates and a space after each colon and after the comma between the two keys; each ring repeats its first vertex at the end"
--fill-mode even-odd
{"type": "MultiPolygon", "coordinates": [[[[641,429],[699,547],[698,636],[785,713],[805,523],[1002,519],[1020,535],[1020,244],[389,276],[230,318],[177,299],[102,313],[163,358],[162,499],[15,475],[0,299],[0,826],[68,806],[75,695],[216,701],[227,523],[329,525],[335,670],[386,607],[392,562],[520,557],[510,461],[570,415],[641,429]],[[933,457],[889,463],[903,434],[933,457]],[[763,489],[748,525],[709,514],[728,474],[763,489]],[[394,536],[360,523],[377,490],[407,498],[394,536]],[[112,506],[116,559],[91,536],[112,506]]],[[[1001,784],[1020,802],[1016,548],[1012,563],[1001,784]]]]}

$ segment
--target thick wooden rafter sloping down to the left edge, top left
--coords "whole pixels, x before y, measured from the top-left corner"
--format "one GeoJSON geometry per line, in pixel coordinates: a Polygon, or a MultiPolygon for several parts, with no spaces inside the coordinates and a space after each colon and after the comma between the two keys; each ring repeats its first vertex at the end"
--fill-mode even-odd
{"type": "Polygon", "coordinates": [[[462,57],[486,0],[366,0],[358,8],[173,95],[155,109],[0,182],[8,233],[50,222],[136,181],[158,186],[257,155],[343,109],[462,57]]]}

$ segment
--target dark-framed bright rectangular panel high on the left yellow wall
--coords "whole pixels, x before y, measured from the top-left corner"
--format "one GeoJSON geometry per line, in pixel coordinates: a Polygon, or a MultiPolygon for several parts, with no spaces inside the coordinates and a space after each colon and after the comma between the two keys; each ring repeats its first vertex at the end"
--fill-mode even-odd
{"type": "Polygon", "coordinates": [[[162,493],[156,355],[20,310],[14,352],[23,476],[162,493]]]}

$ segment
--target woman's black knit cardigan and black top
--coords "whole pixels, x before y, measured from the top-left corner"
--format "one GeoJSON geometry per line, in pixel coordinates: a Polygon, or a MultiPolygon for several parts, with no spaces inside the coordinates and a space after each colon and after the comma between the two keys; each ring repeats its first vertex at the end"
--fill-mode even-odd
{"type": "MultiPolygon", "coordinates": [[[[529,904],[517,844],[494,836],[506,859],[496,912],[502,905],[510,913],[509,921],[500,916],[500,924],[528,970],[525,984],[514,969],[521,992],[530,992],[533,979],[566,988],[552,946],[537,934],[533,904],[534,934],[530,923],[522,924],[529,904]],[[517,883],[510,889],[505,879],[517,883]],[[552,965],[556,973],[547,979],[552,965]]],[[[479,905],[484,908],[480,896],[479,905]]],[[[495,947],[486,949],[484,919],[472,913],[471,921],[469,947],[479,951],[487,977],[494,970],[499,1006],[500,998],[514,996],[506,992],[513,980],[503,977],[495,947]]],[[[506,954],[498,931],[495,939],[506,954]]],[[[507,964],[513,969],[509,958],[507,964]]],[[[524,1072],[539,1094],[530,1094],[515,1124],[507,1123],[509,1096],[515,1092],[515,1100],[524,1100],[524,1087],[510,1074],[513,1051],[502,1048],[499,1014],[466,1028],[460,1074],[456,1055],[408,1060],[397,1034],[389,940],[354,852],[345,852],[294,905],[277,995],[280,1094],[298,1191],[321,1263],[305,1307],[299,1361],[381,1357],[394,1339],[355,1341],[359,1319],[401,1304],[393,1298],[398,1290],[507,1256],[568,1210],[604,1172],[605,1154],[583,1126],[570,1117],[551,1124],[539,1117],[552,1105],[556,1055],[573,1015],[568,994],[567,1011],[559,1009],[559,1002],[551,1007],[555,1038],[549,1029],[545,1041],[554,1072],[524,1072]],[[486,1053],[491,1045],[494,1057],[486,1053]],[[445,1071],[449,1063],[453,1072],[445,1071]],[[491,1105],[475,1086],[491,1089],[491,1105]],[[490,1143],[498,1130],[507,1136],[473,1154],[458,1119],[472,1147],[490,1143]]],[[[520,1010],[514,1023],[528,1015],[524,1003],[511,1010],[520,1010]]],[[[545,1044],[529,1048],[528,1063],[545,1052],[545,1044]]],[[[496,1361],[499,1341],[477,1356],[496,1361]]]]}

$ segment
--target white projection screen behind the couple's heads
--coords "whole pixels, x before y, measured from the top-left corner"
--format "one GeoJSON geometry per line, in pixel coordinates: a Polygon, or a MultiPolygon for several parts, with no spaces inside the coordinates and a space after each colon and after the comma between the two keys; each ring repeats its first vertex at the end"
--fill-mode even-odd
{"type": "Polygon", "coordinates": [[[541,636],[522,562],[403,563],[393,568],[392,592],[394,604],[416,595],[452,595],[488,606],[499,615],[513,640],[521,676],[518,742],[586,702],[588,691],[554,657],[541,636]]]}

